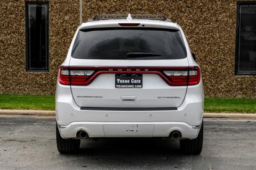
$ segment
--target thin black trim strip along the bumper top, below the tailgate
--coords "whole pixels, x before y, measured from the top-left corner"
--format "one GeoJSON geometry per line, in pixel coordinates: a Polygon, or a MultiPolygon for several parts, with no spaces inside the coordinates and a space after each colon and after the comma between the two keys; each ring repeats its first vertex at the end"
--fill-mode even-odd
{"type": "Polygon", "coordinates": [[[177,111],[177,107],[81,107],[83,111],[177,111]]]}

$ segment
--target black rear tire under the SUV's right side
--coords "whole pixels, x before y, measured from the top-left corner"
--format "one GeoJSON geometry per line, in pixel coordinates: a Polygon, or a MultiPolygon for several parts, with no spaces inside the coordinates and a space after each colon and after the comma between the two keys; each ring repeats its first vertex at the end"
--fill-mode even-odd
{"type": "Polygon", "coordinates": [[[203,148],[204,122],[196,139],[180,139],[180,150],[189,155],[199,155],[203,148]]]}

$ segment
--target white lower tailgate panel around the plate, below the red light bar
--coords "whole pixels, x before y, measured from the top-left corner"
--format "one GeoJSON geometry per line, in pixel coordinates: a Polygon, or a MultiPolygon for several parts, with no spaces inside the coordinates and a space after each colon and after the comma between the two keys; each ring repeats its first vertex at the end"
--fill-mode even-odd
{"type": "Polygon", "coordinates": [[[184,100],[187,87],[169,86],[159,75],[145,73],[143,88],[115,88],[115,73],[104,73],[88,86],[71,86],[71,89],[80,107],[178,107],[184,100]],[[134,101],[125,102],[125,97],[133,97],[134,101]]]}

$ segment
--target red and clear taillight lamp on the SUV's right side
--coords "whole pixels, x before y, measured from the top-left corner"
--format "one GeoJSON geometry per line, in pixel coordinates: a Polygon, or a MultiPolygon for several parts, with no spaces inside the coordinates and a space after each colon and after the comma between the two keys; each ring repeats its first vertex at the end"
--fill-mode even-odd
{"type": "Polygon", "coordinates": [[[173,68],[173,70],[164,70],[171,86],[189,86],[200,82],[200,68],[193,66],[189,68],[173,68]]]}

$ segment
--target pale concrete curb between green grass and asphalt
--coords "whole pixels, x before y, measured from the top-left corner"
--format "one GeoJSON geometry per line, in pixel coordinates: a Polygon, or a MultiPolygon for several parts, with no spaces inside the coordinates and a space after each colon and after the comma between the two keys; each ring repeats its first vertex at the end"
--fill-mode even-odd
{"type": "MultiPolygon", "coordinates": [[[[0,114],[8,115],[33,115],[33,116],[55,116],[55,111],[40,110],[10,110],[0,109],[0,114]]],[[[255,119],[256,113],[216,113],[205,112],[204,118],[233,118],[233,119],[255,119]]]]}

